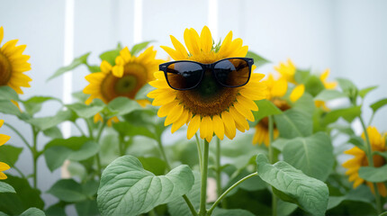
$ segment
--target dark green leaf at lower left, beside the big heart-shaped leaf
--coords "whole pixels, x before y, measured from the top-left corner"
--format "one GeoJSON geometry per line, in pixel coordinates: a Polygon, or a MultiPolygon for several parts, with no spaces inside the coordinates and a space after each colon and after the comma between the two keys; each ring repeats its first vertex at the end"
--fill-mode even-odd
{"type": "Polygon", "coordinates": [[[65,202],[81,202],[87,199],[81,184],[73,179],[61,179],[49,188],[47,193],[65,202]]]}

